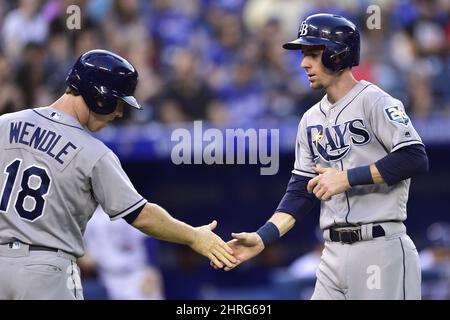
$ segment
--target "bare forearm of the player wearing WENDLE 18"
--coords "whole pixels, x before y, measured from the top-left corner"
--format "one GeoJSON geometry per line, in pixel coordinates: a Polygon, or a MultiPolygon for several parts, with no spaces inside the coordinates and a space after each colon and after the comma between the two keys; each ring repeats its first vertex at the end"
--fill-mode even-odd
{"type": "Polygon", "coordinates": [[[145,205],[133,226],[159,240],[186,245],[194,242],[194,227],[173,218],[164,208],[154,203],[145,205]]]}

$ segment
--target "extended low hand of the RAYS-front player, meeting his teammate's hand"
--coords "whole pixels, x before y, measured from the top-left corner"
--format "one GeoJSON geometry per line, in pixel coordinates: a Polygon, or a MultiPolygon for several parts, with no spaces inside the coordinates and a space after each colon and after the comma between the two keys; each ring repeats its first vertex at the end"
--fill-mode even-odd
{"type": "MultiPolygon", "coordinates": [[[[228,241],[227,245],[233,250],[233,255],[237,261],[232,266],[227,265],[224,269],[225,271],[234,269],[242,262],[257,256],[264,250],[264,243],[256,232],[232,233],[231,236],[233,239],[228,241]]],[[[219,269],[213,261],[211,261],[211,266],[214,269],[219,269]]]]}

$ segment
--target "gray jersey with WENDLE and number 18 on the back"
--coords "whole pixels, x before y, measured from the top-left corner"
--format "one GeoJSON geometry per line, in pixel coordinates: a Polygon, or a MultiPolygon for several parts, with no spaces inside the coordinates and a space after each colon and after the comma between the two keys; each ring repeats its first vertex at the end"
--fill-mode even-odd
{"type": "Polygon", "coordinates": [[[0,117],[0,243],[84,254],[98,204],[115,220],[146,200],[119,160],[73,117],[51,107],[0,117]]]}

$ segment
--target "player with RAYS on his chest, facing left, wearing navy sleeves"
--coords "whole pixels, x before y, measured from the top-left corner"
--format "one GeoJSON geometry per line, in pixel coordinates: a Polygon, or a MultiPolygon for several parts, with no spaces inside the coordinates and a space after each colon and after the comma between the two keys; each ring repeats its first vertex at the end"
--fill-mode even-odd
{"type": "Polygon", "coordinates": [[[302,50],[310,87],[326,95],[300,121],[275,214],[228,243],[238,264],[248,260],[319,199],[325,248],[312,299],[420,299],[419,257],[403,221],[410,177],[428,170],[428,158],[402,103],[353,77],[359,46],[355,25],[332,14],[307,17],[283,46],[302,50]]]}

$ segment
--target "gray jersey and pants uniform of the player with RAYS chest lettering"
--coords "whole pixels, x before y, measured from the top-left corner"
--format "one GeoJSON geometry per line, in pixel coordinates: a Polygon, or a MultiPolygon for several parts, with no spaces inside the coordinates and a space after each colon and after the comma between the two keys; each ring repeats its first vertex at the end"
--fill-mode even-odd
{"type": "MultiPolygon", "coordinates": [[[[304,114],[293,173],[314,177],[313,167],[369,165],[421,143],[402,103],[360,81],[335,104],[325,96],[304,114]]],[[[419,256],[398,222],[406,219],[409,185],[410,179],[392,186],[355,186],[321,202],[320,227],[327,241],[312,299],[420,299],[419,256]],[[384,237],[374,236],[376,225],[384,237]],[[361,240],[370,241],[330,241],[330,227],[359,229],[361,240]]]]}

